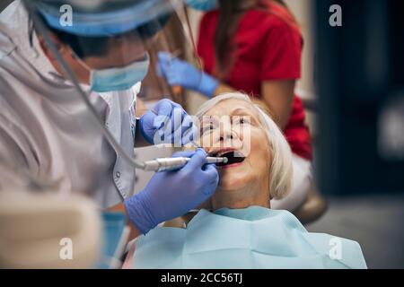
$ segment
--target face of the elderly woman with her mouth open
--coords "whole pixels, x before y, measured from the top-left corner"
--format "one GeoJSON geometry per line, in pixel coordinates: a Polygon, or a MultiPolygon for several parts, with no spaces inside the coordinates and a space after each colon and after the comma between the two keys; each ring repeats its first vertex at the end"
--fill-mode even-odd
{"type": "MultiPolygon", "coordinates": [[[[220,182],[217,192],[268,185],[271,154],[268,138],[259,115],[243,100],[223,100],[209,109],[201,122],[201,144],[210,155],[234,152],[244,156],[232,164],[218,167],[220,182]]],[[[261,188],[261,187],[258,187],[261,188]]],[[[264,189],[268,190],[268,186],[264,189]]],[[[216,192],[216,193],[217,193],[216,192]]]]}

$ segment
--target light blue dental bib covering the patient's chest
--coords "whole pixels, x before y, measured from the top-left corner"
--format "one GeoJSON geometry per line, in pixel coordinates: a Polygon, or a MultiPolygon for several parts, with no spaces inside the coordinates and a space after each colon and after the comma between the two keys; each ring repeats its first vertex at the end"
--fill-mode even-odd
{"type": "Polygon", "coordinates": [[[201,210],[187,229],[159,227],[134,268],[366,268],[356,241],[309,233],[292,213],[259,206],[201,210]]]}

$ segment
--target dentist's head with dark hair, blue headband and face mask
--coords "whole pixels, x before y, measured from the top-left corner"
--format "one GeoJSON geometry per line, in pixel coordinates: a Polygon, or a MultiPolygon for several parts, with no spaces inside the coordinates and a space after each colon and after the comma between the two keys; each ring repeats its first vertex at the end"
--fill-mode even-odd
{"type": "MultiPolygon", "coordinates": [[[[89,84],[92,91],[127,90],[142,81],[149,66],[146,50],[169,19],[168,7],[167,13],[162,9],[154,17],[145,17],[153,7],[145,0],[130,0],[120,5],[106,3],[91,12],[70,5],[66,13],[71,13],[71,22],[64,23],[58,1],[35,2],[59,54],[79,83],[89,84]]],[[[35,22],[34,28],[46,57],[66,76],[35,22]]]]}

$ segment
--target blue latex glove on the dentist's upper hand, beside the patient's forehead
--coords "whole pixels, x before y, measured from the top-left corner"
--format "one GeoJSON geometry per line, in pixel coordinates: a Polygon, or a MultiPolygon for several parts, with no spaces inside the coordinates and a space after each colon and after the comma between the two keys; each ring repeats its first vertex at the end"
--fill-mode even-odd
{"type": "Polygon", "coordinates": [[[173,143],[180,147],[197,139],[198,126],[182,107],[171,100],[160,100],[140,117],[140,131],[148,143],[173,143]]]}

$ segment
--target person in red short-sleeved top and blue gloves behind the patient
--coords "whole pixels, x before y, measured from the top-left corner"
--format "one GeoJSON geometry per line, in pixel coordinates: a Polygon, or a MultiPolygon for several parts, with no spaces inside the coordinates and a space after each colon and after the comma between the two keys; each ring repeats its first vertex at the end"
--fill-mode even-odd
{"type": "Polygon", "coordinates": [[[244,91],[267,105],[292,148],[294,163],[290,195],[272,205],[296,210],[312,187],[312,143],[302,100],[294,95],[295,82],[301,76],[303,39],[293,15],[283,1],[275,0],[188,3],[208,11],[198,36],[204,71],[161,53],[161,74],[169,84],[207,98],[224,91],[244,91]]]}

